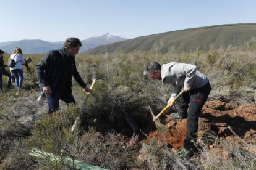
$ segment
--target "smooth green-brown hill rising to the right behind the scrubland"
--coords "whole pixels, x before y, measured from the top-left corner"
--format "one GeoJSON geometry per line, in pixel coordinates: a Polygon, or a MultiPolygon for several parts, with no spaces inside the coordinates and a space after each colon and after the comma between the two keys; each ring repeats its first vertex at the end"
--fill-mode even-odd
{"type": "Polygon", "coordinates": [[[252,38],[256,38],[256,23],[215,25],[128,39],[114,44],[98,46],[85,51],[83,54],[96,55],[121,50],[126,53],[132,51],[147,52],[155,49],[154,44],[160,46],[160,43],[162,44],[161,54],[166,54],[172,47],[175,47],[177,52],[189,52],[197,48],[208,51],[210,44],[215,47],[228,46],[229,44],[241,46],[245,41],[248,42],[252,38]]]}

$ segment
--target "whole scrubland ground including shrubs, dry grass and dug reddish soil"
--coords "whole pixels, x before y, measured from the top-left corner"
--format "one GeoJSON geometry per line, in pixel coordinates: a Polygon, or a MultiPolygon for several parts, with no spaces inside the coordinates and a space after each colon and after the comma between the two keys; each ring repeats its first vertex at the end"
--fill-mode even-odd
{"type": "MultiPolygon", "coordinates": [[[[209,28],[210,29],[210,28],[209,28]]],[[[254,42],[243,46],[209,46],[177,53],[175,47],[161,54],[159,43],[151,52],[123,51],[113,54],[77,55],[77,69],[87,86],[96,83],[85,108],[87,94],[75,81],[72,87],[77,106],[59,105],[59,112],[47,114],[46,101],[36,101],[37,86],[22,94],[8,90],[0,96],[0,169],[74,169],[66,158],[106,169],[254,169],[256,160],[256,52],[254,42]],[[209,101],[200,114],[197,154],[180,159],[186,119],[173,120],[168,114],[153,123],[148,110],[158,113],[166,106],[172,87],[143,75],[145,65],[155,60],[197,65],[211,83],[209,101]],[[75,118],[82,113],[78,131],[75,118]],[[134,133],[126,121],[131,115],[140,130],[134,133]],[[31,157],[33,148],[53,153],[31,157]]],[[[25,72],[24,87],[36,82],[34,65],[43,55],[32,58],[32,74],[25,72]]],[[[7,60],[7,55],[4,55],[7,60]]],[[[3,82],[6,77],[3,76],[3,82]]]]}

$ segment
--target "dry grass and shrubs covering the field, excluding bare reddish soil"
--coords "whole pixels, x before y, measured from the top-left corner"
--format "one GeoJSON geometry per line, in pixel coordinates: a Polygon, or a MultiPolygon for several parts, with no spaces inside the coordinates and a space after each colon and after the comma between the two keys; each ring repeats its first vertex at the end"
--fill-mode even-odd
{"type": "MultiPolygon", "coordinates": [[[[200,155],[189,160],[177,158],[164,141],[161,144],[155,139],[143,141],[141,150],[134,146],[137,136],[132,136],[124,117],[126,114],[141,116],[148,111],[148,105],[161,110],[172,89],[143,75],[145,65],[151,60],[161,64],[181,62],[197,65],[198,70],[210,79],[212,91],[209,100],[255,103],[256,52],[250,48],[250,44],[239,49],[233,46],[210,47],[208,52],[195,50],[181,54],[169,49],[164,55],[160,54],[161,44],[156,44],[155,48],[151,54],[135,51],[130,54],[117,52],[77,56],[77,69],[87,84],[93,78],[98,79],[83,110],[81,128],[77,134],[70,129],[85,94],[75,82],[73,94],[78,107],[67,107],[61,102],[61,110],[53,116],[47,115],[45,102],[36,102],[36,89],[24,90],[20,97],[12,91],[1,95],[0,142],[3,147],[0,168],[70,169],[64,161],[53,163],[46,157],[35,162],[28,156],[28,148],[54,153],[60,160],[67,156],[107,169],[254,168],[255,144],[246,141],[218,140],[220,147],[228,146],[221,150],[227,153],[226,158],[202,145],[198,148],[200,155]],[[122,138],[122,134],[127,137],[122,138]],[[24,146],[23,141],[28,136],[24,146]],[[139,150],[147,155],[144,161],[137,160],[139,150]]],[[[39,62],[42,55],[27,57],[32,58],[33,65],[39,62]]],[[[25,72],[25,76],[24,84],[28,84],[31,81],[29,78],[35,77],[35,73],[28,76],[25,72]]]]}

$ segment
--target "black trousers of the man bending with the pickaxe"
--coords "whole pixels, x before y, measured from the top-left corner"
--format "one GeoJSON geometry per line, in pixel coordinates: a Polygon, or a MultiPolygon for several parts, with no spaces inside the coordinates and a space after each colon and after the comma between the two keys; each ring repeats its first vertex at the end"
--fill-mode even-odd
{"type": "Polygon", "coordinates": [[[198,89],[184,92],[179,99],[178,113],[180,116],[187,118],[187,133],[183,142],[183,147],[187,150],[195,147],[194,142],[197,139],[199,113],[203,105],[205,105],[210,91],[211,85],[208,82],[198,89]]]}

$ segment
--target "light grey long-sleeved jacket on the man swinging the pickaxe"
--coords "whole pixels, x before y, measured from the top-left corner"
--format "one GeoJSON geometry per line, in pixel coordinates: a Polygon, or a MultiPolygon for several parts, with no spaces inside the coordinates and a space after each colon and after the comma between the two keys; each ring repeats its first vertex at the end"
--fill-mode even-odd
{"type": "Polygon", "coordinates": [[[161,76],[163,83],[173,85],[173,94],[176,96],[185,85],[191,87],[190,90],[198,89],[208,83],[209,79],[197,67],[191,64],[171,62],[161,66],[161,76]],[[191,85],[194,83],[193,85],[191,85]]]}

